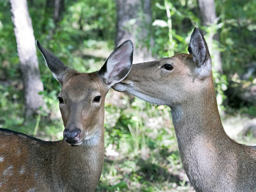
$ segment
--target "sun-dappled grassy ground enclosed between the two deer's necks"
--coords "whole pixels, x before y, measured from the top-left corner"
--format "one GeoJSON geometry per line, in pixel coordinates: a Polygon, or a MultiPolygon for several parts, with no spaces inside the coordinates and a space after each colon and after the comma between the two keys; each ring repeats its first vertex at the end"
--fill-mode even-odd
{"type": "Polygon", "coordinates": [[[190,191],[168,107],[110,91],[105,114],[98,191],[190,191]],[[119,106],[112,104],[116,94],[119,106]]]}

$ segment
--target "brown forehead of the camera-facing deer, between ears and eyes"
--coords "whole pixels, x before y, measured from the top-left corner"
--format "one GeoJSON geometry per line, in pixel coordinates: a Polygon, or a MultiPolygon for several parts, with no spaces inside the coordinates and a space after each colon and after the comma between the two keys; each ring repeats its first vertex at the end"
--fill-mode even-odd
{"type": "Polygon", "coordinates": [[[97,74],[81,73],[72,76],[62,85],[60,96],[72,101],[90,99],[107,94],[106,86],[97,74]]]}

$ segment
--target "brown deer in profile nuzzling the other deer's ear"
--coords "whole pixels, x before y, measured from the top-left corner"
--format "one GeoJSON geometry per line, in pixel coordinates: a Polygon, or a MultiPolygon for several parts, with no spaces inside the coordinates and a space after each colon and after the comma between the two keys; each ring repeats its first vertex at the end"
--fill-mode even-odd
{"type": "Polygon", "coordinates": [[[197,192],[255,192],[256,148],[236,143],[223,129],[212,61],[198,28],[188,52],[134,64],[113,88],[171,108],[181,160],[197,192]]]}

